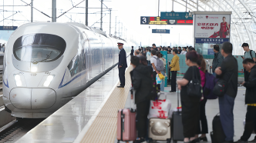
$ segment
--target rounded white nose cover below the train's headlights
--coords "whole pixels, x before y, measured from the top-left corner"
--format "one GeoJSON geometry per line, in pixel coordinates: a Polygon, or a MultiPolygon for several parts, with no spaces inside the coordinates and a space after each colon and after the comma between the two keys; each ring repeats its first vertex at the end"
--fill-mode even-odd
{"type": "Polygon", "coordinates": [[[56,91],[50,88],[13,88],[10,100],[15,108],[45,109],[56,102],[56,91]]]}

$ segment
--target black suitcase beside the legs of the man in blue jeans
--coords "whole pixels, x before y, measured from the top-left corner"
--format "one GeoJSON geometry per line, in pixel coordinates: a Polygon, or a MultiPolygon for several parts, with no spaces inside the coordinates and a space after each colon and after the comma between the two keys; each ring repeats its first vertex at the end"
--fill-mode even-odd
{"type": "Polygon", "coordinates": [[[213,120],[213,131],[211,131],[211,142],[222,143],[225,141],[226,135],[224,134],[220,115],[217,114],[213,120]]]}

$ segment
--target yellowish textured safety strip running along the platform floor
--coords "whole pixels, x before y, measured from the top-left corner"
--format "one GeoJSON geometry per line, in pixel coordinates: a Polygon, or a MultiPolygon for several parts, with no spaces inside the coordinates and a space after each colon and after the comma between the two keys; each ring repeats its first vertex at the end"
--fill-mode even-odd
{"type": "Polygon", "coordinates": [[[133,68],[130,65],[126,70],[126,86],[124,88],[115,88],[113,90],[109,99],[93,121],[93,124],[89,127],[88,131],[86,131],[86,135],[84,135],[81,142],[113,143],[115,141],[117,111],[120,108],[124,108],[124,105],[126,104],[126,98],[131,85],[130,71],[132,71],[132,69],[133,68]]]}

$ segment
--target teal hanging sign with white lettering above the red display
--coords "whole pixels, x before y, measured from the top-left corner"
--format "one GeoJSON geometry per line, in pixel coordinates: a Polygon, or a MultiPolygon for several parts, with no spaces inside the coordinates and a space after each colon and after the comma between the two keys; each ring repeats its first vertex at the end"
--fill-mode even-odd
{"type": "Polygon", "coordinates": [[[190,15],[189,12],[161,12],[161,19],[193,20],[193,15],[190,15]]]}

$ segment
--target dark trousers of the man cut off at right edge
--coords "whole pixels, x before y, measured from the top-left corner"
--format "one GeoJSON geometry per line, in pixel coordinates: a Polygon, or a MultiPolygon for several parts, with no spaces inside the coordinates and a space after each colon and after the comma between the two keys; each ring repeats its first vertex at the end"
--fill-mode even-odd
{"type": "Polygon", "coordinates": [[[245,118],[244,134],[241,136],[242,141],[248,141],[254,130],[256,123],[256,106],[248,106],[245,118]]]}

